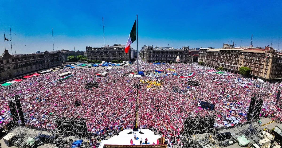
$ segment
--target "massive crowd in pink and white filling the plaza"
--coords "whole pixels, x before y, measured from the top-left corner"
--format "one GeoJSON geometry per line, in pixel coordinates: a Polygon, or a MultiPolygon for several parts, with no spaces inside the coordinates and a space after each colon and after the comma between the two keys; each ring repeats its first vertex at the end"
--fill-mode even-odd
{"type": "Polygon", "coordinates": [[[274,104],[281,83],[271,83],[270,87],[263,88],[255,86],[255,79],[243,78],[230,72],[217,74],[213,72],[215,69],[197,63],[150,64],[139,61],[139,71],[146,74],[155,70],[164,70],[170,74],[129,77],[127,74],[137,71],[137,65],[133,63],[112,70],[61,69],[23,79],[17,82],[17,87],[1,90],[0,124],[3,126],[12,120],[8,98],[19,95],[27,124],[54,129],[52,120],[46,119],[53,112],[80,113],[79,117],[86,118],[89,132],[103,137],[109,129],[120,131],[133,128],[137,91],[137,122],[140,128],[150,128],[178,144],[184,117],[207,114],[207,109],[198,105],[199,101],[215,104],[215,126],[218,127],[245,122],[253,92],[261,94],[263,99],[261,116],[269,115],[272,120],[282,119],[282,112],[274,104]],[[74,75],[56,81],[60,78],[58,74],[67,71],[74,75]],[[103,72],[107,74],[101,78],[95,77],[95,74],[103,72]],[[191,78],[177,78],[192,72],[195,74],[191,78]],[[141,83],[141,79],[145,82],[156,81],[161,86],[147,87],[153,84],[141,83]],[[188,86],[188,79],[199,81],[201,85],[188,86]],[[93,81],[98,82],[98,88],[84,89],[87,83],[93,81]],[[141,84],[138,90],[132,85],[136,83],[141,84]],[[75,101],[80,101],[81,105],[76,107],[75,101]],[[271,117],[272,114],[274,117],[271,117]]]}

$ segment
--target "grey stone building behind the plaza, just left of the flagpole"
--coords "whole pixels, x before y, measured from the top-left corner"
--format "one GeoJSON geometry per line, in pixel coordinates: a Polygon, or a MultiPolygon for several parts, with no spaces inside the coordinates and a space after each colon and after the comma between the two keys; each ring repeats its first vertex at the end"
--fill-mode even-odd
{"type": "MultiPolygon", "coordinates": [[[[133,53],[129,49],[128,53],[124,52],[125,45],[114,44],[113,46],[106,47],[86,47],[87,60],[99,60],[111,62],[113,60],[118,61],[130,61],[133,53]]],[[[134,57],[133,57],[134,58],[134,57]]]]}

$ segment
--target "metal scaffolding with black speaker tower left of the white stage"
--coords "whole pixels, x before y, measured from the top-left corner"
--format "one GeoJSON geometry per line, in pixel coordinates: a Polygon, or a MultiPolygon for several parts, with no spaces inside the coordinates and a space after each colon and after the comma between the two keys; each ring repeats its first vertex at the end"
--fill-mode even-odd
{"type": "Polygon", "coordinates": [[[7,144],[19,148],[65,148],[72,145],[83,148],[90,147],[88,142],[90,135],[87,131],[85,118],[80,117],[83,115],[63,112],[57,114],[54,112],[45,117],[45,123],[54,125],[55,129],[38,128],[22,121],[24,118],[20,114],[21,107],[18,99],[19,96],[11,98],[9,102],[13,121],[5,126],[7,144]],[[34,143],[28,144],[30,139],[33,139],[34,143]]]}

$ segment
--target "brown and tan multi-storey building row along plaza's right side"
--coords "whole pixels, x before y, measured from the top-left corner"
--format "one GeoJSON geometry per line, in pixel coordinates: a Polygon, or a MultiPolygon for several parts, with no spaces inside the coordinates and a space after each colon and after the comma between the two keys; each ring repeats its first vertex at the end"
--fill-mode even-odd
{"type": "Polygon", "coordinates": [[[250,78],[282,79],[282,54],[273,47],[201,48],[199,57],[199,62],[204,62],[204,66],[223,67],[233,73],[238,73],[240,67],[248,67],[251,69],[250,78]]]}

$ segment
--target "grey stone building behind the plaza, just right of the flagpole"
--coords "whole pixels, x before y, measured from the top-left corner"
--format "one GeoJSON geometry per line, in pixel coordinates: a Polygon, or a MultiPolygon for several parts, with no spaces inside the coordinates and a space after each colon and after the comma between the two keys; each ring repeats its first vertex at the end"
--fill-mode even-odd
{"type": "Polygon", "coordinates": [[[155,61],[161,61],[164,63],[174,62],[177,56],[180,58],[180,63],[198,62],[199,50],[191,50],[189,46],[182,47],[180,49],[174,49],[173,47],[157,47],[144,46],[141,50],[145,61],[152,63],[155,61]]]}

